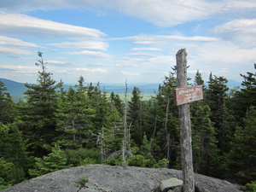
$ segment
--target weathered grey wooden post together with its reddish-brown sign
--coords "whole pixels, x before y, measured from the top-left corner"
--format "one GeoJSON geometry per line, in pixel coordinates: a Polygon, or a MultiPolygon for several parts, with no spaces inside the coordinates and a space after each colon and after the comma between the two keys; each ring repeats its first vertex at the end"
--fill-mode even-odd
{"type": "Polygon", "coordinates": [[[195,192],[189,102],[201,100],[203,96],[201,86],[188,87],[186,56],[186,49],[177,51],[177,89],[174,90],[174,102],[179,113],[183,192],[195,192]]]}

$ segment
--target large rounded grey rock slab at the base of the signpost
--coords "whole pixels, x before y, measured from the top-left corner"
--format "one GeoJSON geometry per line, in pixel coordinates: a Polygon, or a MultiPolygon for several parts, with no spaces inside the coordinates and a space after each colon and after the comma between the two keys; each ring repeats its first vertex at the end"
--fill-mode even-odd
{"type": "MultiPolygon", "coordinates": [[[[182,179],[182,172],[132,166],[78,166],[32,178],[1,192],[149,192],[157,191],[160,181],[172,177],[182,179]],[[81,184],[83,177],[88,181],[81,184]]],[[[217,178],[195,174],[195,182],[205,191],[240,192],[236,185],[217,178]]]]}

